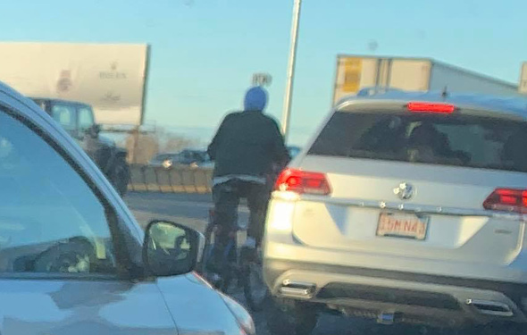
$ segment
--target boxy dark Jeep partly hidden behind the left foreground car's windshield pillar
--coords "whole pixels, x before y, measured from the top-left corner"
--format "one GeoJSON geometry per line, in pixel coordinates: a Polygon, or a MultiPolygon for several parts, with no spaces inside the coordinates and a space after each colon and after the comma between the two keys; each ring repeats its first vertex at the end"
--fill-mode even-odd
{"type": "Polygon", "coordinates": [[[32,100],[77,141],[121,196],[124,195],[130,180],[127,152],[110,138],[99,135],[101,129],[95,122],[92,107],[60,99],[34,97],[32,100]]]}

